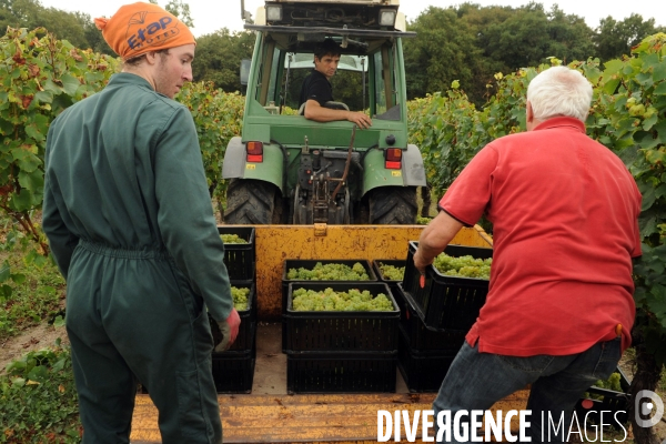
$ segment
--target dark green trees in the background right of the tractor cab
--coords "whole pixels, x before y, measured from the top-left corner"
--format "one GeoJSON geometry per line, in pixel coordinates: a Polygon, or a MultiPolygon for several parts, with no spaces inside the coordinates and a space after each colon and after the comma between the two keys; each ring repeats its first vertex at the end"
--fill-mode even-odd
{"type": "Polygon", "coordinates": [[[446,91],[458,80],[477,105],[495,92],[486,85],[498,72],[535,67],[548,58],[605,62],[628,56],[645,37],[666,30],[639,14],[620,21],[608,16],[591,29],[556,4],[546,11],[537,2],[519,8],[431,7],[407,28],[417,32],[404,43],[410,99],[446,91]]]}

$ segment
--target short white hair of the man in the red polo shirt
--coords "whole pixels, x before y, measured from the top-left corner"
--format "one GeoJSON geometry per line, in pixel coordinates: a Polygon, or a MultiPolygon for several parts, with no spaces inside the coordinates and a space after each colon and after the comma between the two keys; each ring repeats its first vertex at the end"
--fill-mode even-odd
{"type": "Polygon", "coordinates": [[[541,121],[565,115],[585,122],[592,103],[592,84],[579,71],[548,68],[529,82],[527,101],[532,103],[534,118],[541,121]]]}

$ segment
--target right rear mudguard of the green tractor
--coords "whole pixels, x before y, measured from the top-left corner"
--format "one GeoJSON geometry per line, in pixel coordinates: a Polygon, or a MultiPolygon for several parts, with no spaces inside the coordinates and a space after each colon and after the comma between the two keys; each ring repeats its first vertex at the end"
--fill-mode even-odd
{"type": "Polygon", "coordinates": [[[425,168],[418,148],[407,145],[400,170],[386,170],[384,151],[371,150],[363,160],[363,194],[377,186],[426,186],[425,168]]]}

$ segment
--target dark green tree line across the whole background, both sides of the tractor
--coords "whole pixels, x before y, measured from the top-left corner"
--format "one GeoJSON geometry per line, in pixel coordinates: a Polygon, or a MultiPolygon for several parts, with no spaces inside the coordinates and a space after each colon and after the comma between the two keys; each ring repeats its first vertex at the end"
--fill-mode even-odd
{"type": "MultiPolygon", "coordinates": [[[[195,27],[184,0],[170,0],[165,9],[195,27]]],[[[2,33],[7,27],[44,27],[77,48],[113,54],[89,14],[46,8],[39,0],[0,0],[2,33]]],[[[564,62],[598,58],[603,63],[628,56],[647,36],[666,32],[655,19],[636,13],[624,20],[608,16],[592,29],[579,16],[565,13],[557,6],[548,11],[534,1],[518,8],[473,2],[430,7],[410,21],[407,29],[417,33],[404,41],[410,99],[445,91],[457,80],[477,105],[495,92],[487,85],[500,72],[538,65],[548,58],[564,62]]],[[[226,92],[242,91],[241,60],[250,59],[253,48],[252,32],[223,28],[199,37],[194,80],[212,81],[226,92]]],[[[341,88],[336,94],[344,97],[341,88]]]]}

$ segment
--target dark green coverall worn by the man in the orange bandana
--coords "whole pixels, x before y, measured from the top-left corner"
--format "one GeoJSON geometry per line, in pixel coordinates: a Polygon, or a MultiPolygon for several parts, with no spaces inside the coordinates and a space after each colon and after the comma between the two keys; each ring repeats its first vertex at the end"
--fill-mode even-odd
{"type": "Polygon", "coordinates": [[[205,309],[222,321],[233,304],[189,110],[119,73],[63,111],[43,229],[67,279],[83,442],[129,442],[134,376],[164,443],[222,442],[205,309]]]}

